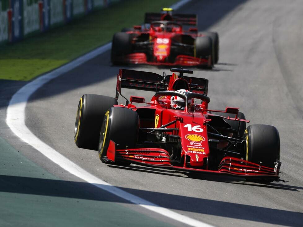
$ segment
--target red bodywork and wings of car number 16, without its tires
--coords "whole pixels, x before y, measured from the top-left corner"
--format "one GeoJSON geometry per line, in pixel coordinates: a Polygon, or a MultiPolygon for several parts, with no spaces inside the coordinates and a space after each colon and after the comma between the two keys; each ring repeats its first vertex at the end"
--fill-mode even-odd
{"type": "MultiPolygon", "coordinates": [[[[186,77],[183,76],[182,72],[180,75],[161,76],[151,72],[120,69],[117,76],[116,98],[118,98],[119,94],[121,95],[121,88],[156,91],[156,94],[152,97],[151,102],[148,103],[145,102],[143,97],[131,96],[130,104],[115,105],[116,107],[125,107],[137,111],[140,117],[141,131],[149,133],[158,129],[160,132],[165,133],[165,141],[168,141],[167,138],[173,138],[172,140],[179,138],[181,152],[178,154],[177,159],[172,159],[171,152],[163,148],[154,148],[152,146],[149,148],[148,144],[144,148],[116,149],[115,142],[111,140],[104,161],[115,162],[123,160],[139,165],[201,173],[229,174],[244,178],[279,179],[281,162],[277,161],[275,168],[269,168],[244,160],[243,156],[245,155],[242,155],[241,158],[241,154],[236,151],[227,151],[229,154],[222,156],[215,169],[209,165],[209,158],[212,152],[210,143],[218,135],[215,136],[214,133],[209,132],[207,125],[211,121],[221,122],[222,119],[237,122],[249,121],[237,117],[239,108],[226,107],[225,111],[208,110],[210,101],[207,97],[208,80],[186,77]],[[191,97],[201,99],[201,103],[195,103],[195,106],[191,108],[186,106],[185,110],[171,109],[170,96],[175,94],[176,90],[180,88],[193,92],[191,97]],[[135,102],[146,103],[147,105],[136,107],[133,105],[135,102]],[[143,115],[144,111],[153,113],[152,121],[146,119],[143,115]],[[214,114],[214,112],[230,113],[235,117],[222,117],[214,114]]],[[[232,138],[232,133],[230,132],[222,135],[222,138],[217,144],[217,150],[225,149],[229,139],[232,139],[235,143],[244,143],[244,140],[232,138]]]]}

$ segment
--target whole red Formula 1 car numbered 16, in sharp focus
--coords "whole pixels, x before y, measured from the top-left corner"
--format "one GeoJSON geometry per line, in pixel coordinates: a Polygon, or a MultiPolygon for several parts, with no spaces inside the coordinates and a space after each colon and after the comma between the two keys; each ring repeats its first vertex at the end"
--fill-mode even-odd
{"type": "Polygon", "coordinates": [[[171,71],[180,75],[120,69],[116,98],[83,95],[75,124],[76,145],[98,148],[104,163],[278,181],[277,129],[269,125],[246,128],[249,121],[239,108],[208,109],[208,80],[183,76],[191,70],[171,71]],[[121,88],[156,93],[150,102],[131,96],[130,103],[126,99],[125,105],[118,105],[121,88]]]}

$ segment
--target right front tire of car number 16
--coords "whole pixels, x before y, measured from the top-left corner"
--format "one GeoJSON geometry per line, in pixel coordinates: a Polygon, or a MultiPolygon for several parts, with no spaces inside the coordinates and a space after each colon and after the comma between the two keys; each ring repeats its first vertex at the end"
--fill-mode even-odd
{"type": "Polygon", "coordinates": [[[274,168],[280,159],[280,137],[274,126],[250,125],[244,132],[246,161],[274,168]]]}

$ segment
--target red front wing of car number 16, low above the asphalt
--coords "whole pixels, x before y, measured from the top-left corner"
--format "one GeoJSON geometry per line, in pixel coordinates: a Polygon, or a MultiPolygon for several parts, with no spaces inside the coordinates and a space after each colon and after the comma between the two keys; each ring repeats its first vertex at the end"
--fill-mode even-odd
{"type": "Polygon", "coordinates": [[[218,170],[194,169],[173,165],[169,153],[164,149],[138,148],[116,150],[115,143],[112,140],[110,140],[107,156],[103,157],[103,159],[109,163],[126,161],[138,165],[183,170],[187,172],[226,174],[243,178],[274,178],[277,180],[279,179],[279,169],[281,166],[280,161],[275,163],[274,168],[269,168],[235,157],[224,157],[218,170]]]}

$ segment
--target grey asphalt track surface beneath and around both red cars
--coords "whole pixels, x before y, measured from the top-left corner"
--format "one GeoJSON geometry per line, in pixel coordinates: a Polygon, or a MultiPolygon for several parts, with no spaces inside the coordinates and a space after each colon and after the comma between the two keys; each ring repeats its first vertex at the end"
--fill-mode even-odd
{"type": "MultiPolygon", "coordinates": [[[[94,176],[131,194],[216,226],[302,226],[303,220],[303,5],[300,0],[192,1],[180,12],[197,13],[199,30],[217,31],[220,59],[213,70],[195,70],[209,79],[209,108],[240,107],[251,124],[278,128],[281,173],[286,180],[268,185],[242,178],[188,176],[170,170],[102,164],[98,152],[77,148],[73,128],[84,93],[115,95],[119,67],[102,54],[38,89],[26,108],[26,125],[43,142],[94,176]]],[[[125,67],[125,66],[123,66],[125,67]]],[[[127,68],[162,73],[153,66],[127,68]]],[[[151,92],[123,90],[125,96],[151,92]]],[[[122,103],[123,99],[120,98],[122,103]]],[[[6,130],[7,133],[8,130],[6,130]]],[[[9,140],[38,165],[65,181],[81,182],[16,140],[9,140]],[[23,148],[21,148],[23,146],[23,148]]],[[[94,191],[83,183],[82,189],[94,191]]],[[[97,194],[97,192],[94,192],[97,194]]],[[[64,196],[64,195],[63,195],[64,196]]],[[[139,210],[102,192],[98,199],[123,204],[166,223],[169,218],[139,210]]]]}

